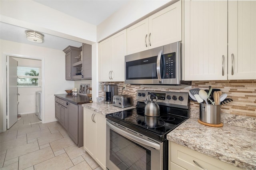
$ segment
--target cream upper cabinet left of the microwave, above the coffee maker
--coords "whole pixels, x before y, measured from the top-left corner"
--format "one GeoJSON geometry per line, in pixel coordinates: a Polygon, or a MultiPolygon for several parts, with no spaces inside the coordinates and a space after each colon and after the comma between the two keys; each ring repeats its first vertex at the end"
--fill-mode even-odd
{"type": "Polygon", "coordinates": [[[126,30],[99,43],[99,81],[124,81],[126,30]]]}

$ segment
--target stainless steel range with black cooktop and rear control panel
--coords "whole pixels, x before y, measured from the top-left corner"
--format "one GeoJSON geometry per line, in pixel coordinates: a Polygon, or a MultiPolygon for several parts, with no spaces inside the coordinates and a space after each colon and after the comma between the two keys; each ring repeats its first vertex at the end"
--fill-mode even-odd
{"type": "Polygon", "coordinates": [[[106,115],[106,166],[109,170],[168,169],[166,135],[190,117],[188,93],[138,90],[136,99],[136,108],[106,115]],[[158,117],[144,115],[148,97],[154,101],[157,97],[158,117]]]}

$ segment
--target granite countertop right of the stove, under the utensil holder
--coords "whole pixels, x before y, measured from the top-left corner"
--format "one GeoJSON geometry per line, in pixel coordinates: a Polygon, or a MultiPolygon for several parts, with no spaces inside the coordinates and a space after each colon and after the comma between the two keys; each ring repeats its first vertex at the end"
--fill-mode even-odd
{"type": "Polygon", "coordinates": [[[188,119],[167,134],[167,139],[228,164],[256,169],[256,130],[224,124],[207,127],[188,119]]]}

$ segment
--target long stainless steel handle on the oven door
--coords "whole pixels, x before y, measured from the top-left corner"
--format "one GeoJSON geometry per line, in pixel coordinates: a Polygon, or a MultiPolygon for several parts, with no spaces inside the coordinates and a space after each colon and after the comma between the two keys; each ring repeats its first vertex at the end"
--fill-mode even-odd
{"type": "Polygon", "coordinates": [[[155,148],[157,150],[160,150],[160,144],[156,144],[154,142],[150,142],[148,140],[145,140],[145,139],[142,139],[142,138],[139,138],[137,136],[134,136],[118,127],[115,127],[114,125],[112,125],[111,123],[109,123],[108,121],[107,122],[107,125],[112,128],[114,131],[118,132],[119,134],[122,134],[123,136],[125,136],[126,138],[129,138],[130,140],[135,140],[136,142],[139,142],[141,144],[145,144],[147,146],[150,146],[152,148],[155,148]]]}

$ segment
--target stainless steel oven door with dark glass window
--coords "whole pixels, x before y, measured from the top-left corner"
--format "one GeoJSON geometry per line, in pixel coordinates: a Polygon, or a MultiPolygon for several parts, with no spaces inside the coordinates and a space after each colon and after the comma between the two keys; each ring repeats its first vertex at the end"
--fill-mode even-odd
{"type": "Polygon", "coordinates": [[[163,144],[107,120],[106,167],[109,170],[162,170],[163,144]]]}

